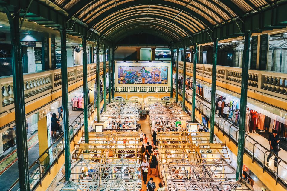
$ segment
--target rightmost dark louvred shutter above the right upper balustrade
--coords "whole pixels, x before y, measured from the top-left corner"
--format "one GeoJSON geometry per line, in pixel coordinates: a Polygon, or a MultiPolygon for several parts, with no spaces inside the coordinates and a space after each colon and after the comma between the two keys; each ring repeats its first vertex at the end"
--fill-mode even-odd
{"type": "Polygon", "coordinates": [[[260,55],[259,55],[259,70],[266,70],[268,56],[269,35],[260,35],[260,55]]]}

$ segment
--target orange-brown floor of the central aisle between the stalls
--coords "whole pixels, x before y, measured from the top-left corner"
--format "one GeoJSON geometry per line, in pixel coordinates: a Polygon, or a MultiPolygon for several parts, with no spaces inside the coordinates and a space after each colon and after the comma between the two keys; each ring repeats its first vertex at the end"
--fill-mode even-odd
{"type": "MultiPolygon", "coordinates": [[[[146,118],[141,117],[139,123],[141,124],[141,130],[143,131],[144,134],[146,134],[146,137],[148,138],[147,141],[152,142],[152,134],[150,131],[150,126],[149,126],[149,116],[147,116],[146,118]]],[[[153,178],[153,181],[155,182],[155,190],[157,190],[158,187],[158,183],[161,182],[161,178],[159,178],[159,174],[158,174],[158,170],[157,170],[157,177],[155,177],[155,174],[153,172],[152,175],[148,174],[147,175],[147,181],[149,181],[149,178],[153,178]]],[[[146,190],[146,184],[144,184],[144,181],[142,181],[142,189],[146,190]]]]}

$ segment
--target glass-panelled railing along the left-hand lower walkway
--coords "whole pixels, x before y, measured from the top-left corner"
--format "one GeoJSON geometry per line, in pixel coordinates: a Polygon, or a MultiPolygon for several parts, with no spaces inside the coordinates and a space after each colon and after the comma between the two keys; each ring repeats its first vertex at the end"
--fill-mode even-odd
{"type": "MultiPolygon", "coordinates": [[[[108,93],[107,93],[108,94],[108,93]]],[[[103,92],[100,94],[101,101],[103,101],[103,92]]],[[[88,117],[97,109],[97,99],[88,105],[88,117]]],[[[78,135],[81,128],[84,126],[84,111],[70,124],[70,142],[78,135]]],[[[58,138],[48,147],[42,155],[29,167],[30,175],[30,190],[35,190],[40,184],[44,176],[51,171],[53,165],[58,163],[58,159],[64,155],[64,133],[61,133],[58,138]]],[[[8,191],[19,190],[17,186],[19,179],[12,184],[8,191]]]]}

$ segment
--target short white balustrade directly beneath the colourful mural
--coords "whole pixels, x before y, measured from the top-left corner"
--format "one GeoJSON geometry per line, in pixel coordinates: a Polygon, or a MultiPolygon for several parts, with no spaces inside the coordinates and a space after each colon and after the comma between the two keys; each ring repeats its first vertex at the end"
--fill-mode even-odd
{"type": "Polygon", "coordinates": [[[170,92],[170,87],[115,87],[115,92],[170,92]]]}

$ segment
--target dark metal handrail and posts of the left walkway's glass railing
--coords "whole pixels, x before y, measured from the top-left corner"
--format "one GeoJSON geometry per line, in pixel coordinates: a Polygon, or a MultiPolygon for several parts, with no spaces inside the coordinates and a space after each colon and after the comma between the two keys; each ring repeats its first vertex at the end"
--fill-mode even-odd
{"type": "MultiPolygon", "coordinates": [[[[101,94],[103,94],[103,92],[101,93],[101,94]]],[[[107,94],[108,94],[108,92],[107,92],[107,94]]],[[[103,99],[102,99],[103,100],[103,99]]],[[[101,100],[101,101],[102,101],[101,100]]],[[[88,108],[90,108],[92,105],[93,105],[93,103],[95,103],[97,101],[97,98],[94,100],[94,101],[92,101],[89,105],[88,105],[88,108]]],[[[95,107],[95,109],[96,109],[96,107],[95,107]]],[[[94,110],[95,110],[94,109],[94,110]]],[[[78,121],[77,121],[77,119],[78,118],[80,118],[80,115],[83,115],[83,113],[84,113],[84,111],[82,112],[82,113],[80,113],[79,114],[79,116],[69,125],[69,127],[71,127],[71,128],[69,128],[69,130],[70,129],[74,129],[73,128],[73,123],[74,122],[76,122],[77,124],[78,124],[78,121]]],[[[89,114],[89,116],[91,116],[91,113],[89,114]]],[[[80,120],[81,120],[82,118],[80,118],[80,120]]],[[[81,127],[83,126],[83,124],[82,124],[82,122],[81,122],[81,127]]],[[[78,133],[78,131],[80,130],[81,128],[78,128],[78,126],[77,126],[77,133],[78,133]]],[[[56,140],[55,141],[53,141],[53,143],[39,156],[39,158],[37,158],[37,160],[35,161],[35,162],[33,162],[33,164],[32,165],[30,165],[30,167],[29,167],[29,170],[30,169],[32,169],[32,167],[35,165],[35,164],[39,164],[38,163],[38,161],[40,160],[40,158],[42,158],[45,154],[47,154],[48,153],[48,150],[49,149],[51,149],[52,147],[53,147],[53,145],[54,144],[56,144],[57,143],[57,141],[59,141],[59,139],[60,138],[62,138],[62,141],[63,141],[63,144],[64,144],[64,137],[63,137],[63,135],[64,135],[64,132],[63,133],[61,133],[57,138],[56,138],[56,140]]],[[[74,130],[73,130],[73,137],[72,138],[70,138],[70,142],[72,141],[74,139],[74,130]]],[[[61,142],[61,141],[60,141],[61,142]]],[[[57,144],[56,144],[56,148],[57,148],[57,144]]],[[[63,151],[64,151],[64,145],[63,145],[63,150],[60,152],[60,153],[58,153],[58,150],[56,149],[56,153],[57,153],[57,156],[56,156],[56,158],[57,158],[57,161],[58,161],[58,157],[61,155],[61,153],[63,153],[63,151]]],[[[63,153],[64,154],[64,153],[63,153]]],[[[54,162],[55,162],[56,160],[54,160],[54,162]]],[[[54,164],[54,162],[52,163],[52,164],[54,164]]],[[[50,167],[49,167],[49,170],[51,169],[51,164],[50,164],[50,162],[49,162],[49,165],[50,165],[50,167]]],[[[41,166],[41,164],[39,164],[39,166],[41,166]]],[[[42,172],[41,172],[41,170],[40,170],[40,184],[42,184],[42,177],[43,177],[43,175],[42,175],[42,172]]],[[[19,178],[8,188],[8,190],[7,191],[11,191],[15,186],[16,186],[16,184],[19,182],[19,178]]],[[[39,182],[37,182],[37,184],[38,184],[39,182]]],[[[36,187],[36,185],[34,186],[34,188],[36,187]]],[[[33,189],[32,189],[33,190],[33,189]]]]}

